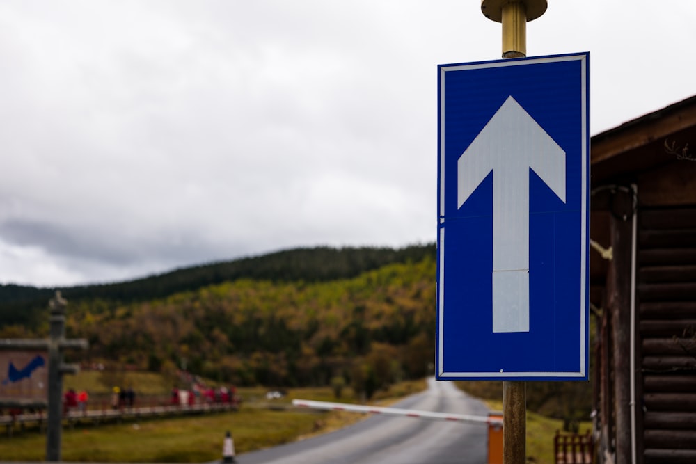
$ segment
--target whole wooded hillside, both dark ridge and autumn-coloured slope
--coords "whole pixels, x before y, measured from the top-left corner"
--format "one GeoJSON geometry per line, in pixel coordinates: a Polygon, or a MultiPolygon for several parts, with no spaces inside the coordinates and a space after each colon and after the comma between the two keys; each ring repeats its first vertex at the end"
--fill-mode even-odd
{"type": "MultiPolygon", "coordinates": [[[[402,379],[432,374],[435,254],[432,245],[289,250],[66,288],[68,336],[90,343],[70,361],[170,378],[186,366],[239,386],[349,386],[370,398],[402,379]]],[[[0,298],[0,307],[10,323],[0,321],[0,337],[46,336],[47,289],[31,296],[23,287],[14,299],[13,289],[2,290],[9,303],[0,298]],[[40,306],[26,303],[37,295],[40,306]],[[41,317],[23,323],[13,305],[41,317]]],[[[479,397],[500,398],[500,383],[467,384],[479,397]]],[[[589,383],[528,383],[528,405],[571,422],[589,415],[591,392],[589,383]]]]}

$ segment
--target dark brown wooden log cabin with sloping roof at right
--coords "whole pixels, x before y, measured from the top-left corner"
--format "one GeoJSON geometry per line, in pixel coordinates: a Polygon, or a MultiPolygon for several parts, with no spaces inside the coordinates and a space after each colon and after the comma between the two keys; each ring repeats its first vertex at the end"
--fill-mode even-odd
{"type": "Polygon", "coordinates": [[[696,463],[696,97],[592,137],[599,463],[696,463]]]}

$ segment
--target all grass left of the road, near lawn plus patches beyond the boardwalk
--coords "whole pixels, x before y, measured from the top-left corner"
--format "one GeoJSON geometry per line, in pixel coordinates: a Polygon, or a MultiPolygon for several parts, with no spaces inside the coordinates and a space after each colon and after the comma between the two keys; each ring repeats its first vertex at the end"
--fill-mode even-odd
{"type": "MultiPolygon", "coordinates": [[[[89,373],[84,373],[89,374],[89,373]]],[[[81,374],[81,375],[84,375],[81,374]]],[[[95,394],[106,394],[106,387],[90,384],[91,376],[73,378],[75,388],[87,387],[95,394]]],[[[137,385],[146,382],[134,377],[137,385]]],[[[374,403],[388,404],[407,394],[425,389],[425,381],[395,385],[379,392],[374,403]]],[[[68,387],[68,385],[66,385],[68,387]]],[[[292,399],[354,402],[351,390],[345,389],[335,399],[329,387],[288,390],[282,399],[267,401],[265,388],[239,388],[244,402],[236,413],[202,415],[195,418],[139,420],[118,425],[76,426],[63,429],[63,461],[92,462],[205,462],[220,459],[226,431],[232,433],[235,451],[241,454],[286,442],[326,433],[362,419],[363,415],[345,412],[317,413],[312,410],[271,410],[289,406],[292,399]]],[[[148,394],[166,394],[166,390],[145,390],[148,394]]],[[[45,458],[45,435],[36,432],[0,436],[3,461],[42,461],[45,458]]]]}

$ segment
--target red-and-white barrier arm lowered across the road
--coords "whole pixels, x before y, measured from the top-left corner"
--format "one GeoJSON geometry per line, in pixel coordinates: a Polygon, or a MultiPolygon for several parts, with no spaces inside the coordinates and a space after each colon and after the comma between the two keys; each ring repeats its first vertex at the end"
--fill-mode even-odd
{"type": "Polygon", "coordinates": [[[307,399],[294,399],[292,404],[298,408],[328,409],[335,411],[350,411],[363,414],[387,414],[406,417],[418,417],[420,419],[444,420],[450,422],[468,422],[474,424],[488,424],[503,426],[500,417],[475,416],[468,414],[434,413],[415,409],[381,408],[379,406],[361,406],[358,404],[330,403],[329,401],[311,401],[307,399]]]}

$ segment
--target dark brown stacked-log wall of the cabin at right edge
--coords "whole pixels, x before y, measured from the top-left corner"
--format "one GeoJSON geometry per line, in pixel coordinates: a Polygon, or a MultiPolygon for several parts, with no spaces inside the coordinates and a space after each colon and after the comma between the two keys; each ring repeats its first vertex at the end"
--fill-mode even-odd
{"type": "Polygon", "coordinates": [[[641,209],[637,258],[642,457],[696,463],[696,207],[641,209]]]}

